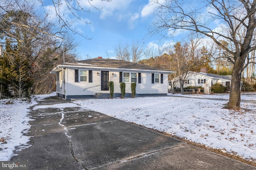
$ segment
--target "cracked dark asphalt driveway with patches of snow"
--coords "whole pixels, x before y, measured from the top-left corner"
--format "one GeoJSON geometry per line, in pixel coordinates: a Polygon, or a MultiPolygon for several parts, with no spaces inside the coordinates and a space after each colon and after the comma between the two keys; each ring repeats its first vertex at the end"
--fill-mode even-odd
{"type": "Polygon", "coordinates": [[[38,100],[29,116],[31,146],[11,158],[29,170],[256,169],[57,97],[38,100]]]}

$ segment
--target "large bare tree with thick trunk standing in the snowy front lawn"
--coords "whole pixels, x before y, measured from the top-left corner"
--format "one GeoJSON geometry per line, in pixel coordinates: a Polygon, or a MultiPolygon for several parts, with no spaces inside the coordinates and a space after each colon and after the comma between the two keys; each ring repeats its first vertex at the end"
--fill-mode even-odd
{"type": "Polygon", "coordinates": [[[256,49],[254,34],[256,28],[256,0],[164,0],[155,1],[158,7],[154,12],[156,22],[152,33],[166,33],[168,36],[177,30],[189,30],[211,38],[230,54],[228,61],[233,63],[230,86],[230,109],[240,108],[240,81],[248,53],[256,49]],[[198,5],[201,4],[201,5],[198,5]],[[218,21],[218,29],[212,27],[218,21]],[[240,30],[244,38],[240,39],[240,30]],[[224,46],[221,41],[230,42],[224,46]]]}

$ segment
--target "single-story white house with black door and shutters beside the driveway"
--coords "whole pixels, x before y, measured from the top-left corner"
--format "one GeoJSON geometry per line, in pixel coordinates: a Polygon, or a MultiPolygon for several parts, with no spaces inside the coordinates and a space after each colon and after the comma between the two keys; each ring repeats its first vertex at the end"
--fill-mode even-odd
{"type": "Polygon", "coordinates": [[[109,81],[114,82],[114,97],[121,97],[120,82],[126,83],[125,97],[131,96],[132,82],[136,82],[136,96],[166,96],[168,74],[172,72],[102,57],[62,63],[51,71],[56,74],[57,96],[66,100],[110,98],[109,81]]]}

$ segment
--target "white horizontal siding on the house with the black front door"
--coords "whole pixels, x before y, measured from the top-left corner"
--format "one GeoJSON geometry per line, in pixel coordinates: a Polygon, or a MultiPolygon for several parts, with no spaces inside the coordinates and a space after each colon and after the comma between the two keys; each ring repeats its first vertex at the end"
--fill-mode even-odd
{"type": "MultiPolygon", "coordinates": [[[[101,77],[97,76],[97,72],[100,73],[101,70],[99,69],[92,69],[92,82],[75,82],[75,69],[78,68],[67,68],[66,69],[66,86],[67,86],[67,96],[72,95],[95,95],[96,93],[109,93],[109,91],[101,91],[100,84],[101,84],[101,77]]],[[[88,69],[89,70],[89,69],[88,69]]],[[[108,70],[108,69],[102,69],[108,70]]],[[[123,72],[130,72],[123,71],[123,72]]],[[[137,74],[137,83],[136,83],[136,93],[137,94],[167,94],[168,93],[168,74],[163,74],[163,84],[154,83],[152,84],[151,75],[152,72],[141,72],[141,83],[138,83],[138,74],[137,74]]],[[[119,70],[109,70],[109,79],[110,81],[114,82],[114,93],[120,93],[120,72],[119,70]],[[114,73],[114,76],[112,76],[114,73]]],[[[159,72],[160,74],[160,72],[159,72]]],[[[61,75],[59,75],[61,76],[61,75]]],[[[64,80],[57,82],[56,92],[60,94],[64,94],[64,80]]],[[[88,77],[87,77],[88,80],[88,77]]],[[[126,83],[126,93],[131,93],[131,83],[126,83]]]]}

